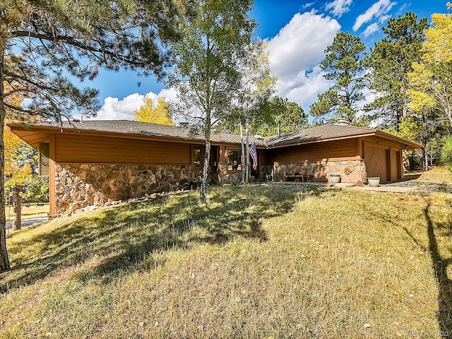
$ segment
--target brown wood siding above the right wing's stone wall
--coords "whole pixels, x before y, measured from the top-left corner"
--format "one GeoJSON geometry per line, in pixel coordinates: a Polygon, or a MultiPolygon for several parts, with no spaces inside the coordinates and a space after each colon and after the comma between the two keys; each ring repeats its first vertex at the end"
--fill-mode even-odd
{"type": "Polygon", "coordinates": [[[267,162],[273,164],[299,164],[320,160],[351,160],[357,158],[357,143],[355,139],[328,141],[297,145],[287,148],[275,148],[267,151],[267,162]]]}

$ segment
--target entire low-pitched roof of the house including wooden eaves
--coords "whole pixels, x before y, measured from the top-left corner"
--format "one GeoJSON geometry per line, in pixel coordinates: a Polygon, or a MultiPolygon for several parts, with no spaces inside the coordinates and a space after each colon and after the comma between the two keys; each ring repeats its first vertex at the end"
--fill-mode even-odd
{"type": "MultiPolygon", "coordinates": [[[[177,126],[167,126],[160,124],[150,124],[140,121],[129,120],[88,120],[83,122],[34,122],[21,124],[8,124],[11,130],[18,134],[25,141],[31,140],[33,134],[42,133],[85,133],[101,136],[117,136],[121,138],[146,138],[160,141],[187,142],[192,141],[202,143],[203,138],[199,135],[191,135],[190,129],[177,126]],[[34,132],[34,133],[33,133],[34,132]],[[26,135],[25,135],[26,134],[26,135]]],[[[250,143],[256,143],[259,148],[280,148],[289,145],[302,145],[307,143],[320,143],[324,141],[334,141],[346,138],[357,138],[364,136],[379,136],[388,140],[403,143],[408,148],[422,148],[422,145],[413,143],[404,138],[393,136],[392,134],[378,129],[367,129],[356,126],[343,125],[321,125],[309,129],[301,129],[283,133],[280,136],[268,136],[266,138],[250,137],[250,143]]],[[[39,138],[35,138],[35,143],[39,138]]],[[[240,136],[232,133],[212,133],[212,143],[239,144],[240,136]]],[[[41,141],[42,142],[42,141],[41,141]]],[[[29,142],[31,143],[31,142],[29,142]]]]}

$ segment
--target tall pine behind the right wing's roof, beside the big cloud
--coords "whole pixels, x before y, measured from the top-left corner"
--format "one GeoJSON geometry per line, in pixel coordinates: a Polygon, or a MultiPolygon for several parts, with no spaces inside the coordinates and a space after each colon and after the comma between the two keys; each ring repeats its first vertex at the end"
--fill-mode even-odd
{"type": "Polygon", "coordinates": [[[334,81],[332,88],[319,94],[318,101],[310,107],[310,114],[328,122],[362,125],[357,105],[364,99],[363,59],[366,46],[359,37],[347,32],[338,33],[333,44],[326,49],[326,59],[321,68],[327,80],[334,81]]]}

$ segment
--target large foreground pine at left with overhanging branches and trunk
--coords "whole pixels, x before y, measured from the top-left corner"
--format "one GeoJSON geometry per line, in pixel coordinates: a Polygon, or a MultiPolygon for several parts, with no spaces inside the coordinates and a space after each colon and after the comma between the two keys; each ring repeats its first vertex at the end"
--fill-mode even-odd
{"type": "MultiPolygon", "coordinates": [[[[71,112],[92,114],[97,90],[76,88],[100,67],[136,69],[162,76],[169,55],[162,46],[179,38],[191,7],[176,0],[0,2],[0,272],[8,270],[4,214],[6,110],[61,121],[71,112]],[[8,84],[5,91],[4,84],[8,84]],[[28,105],[11,105],[11,96],[28,105]]],[[[187,0],[189,3],[189,0],[187,0]]]]}

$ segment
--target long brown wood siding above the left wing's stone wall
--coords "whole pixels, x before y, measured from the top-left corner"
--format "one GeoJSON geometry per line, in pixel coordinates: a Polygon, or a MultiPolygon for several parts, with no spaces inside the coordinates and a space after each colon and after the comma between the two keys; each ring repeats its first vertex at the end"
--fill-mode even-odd
{"type": "Polygon", "coordinates": [[[57,134],[55,160],[81,164],[190,165],[191,145],[57,134]]]}

